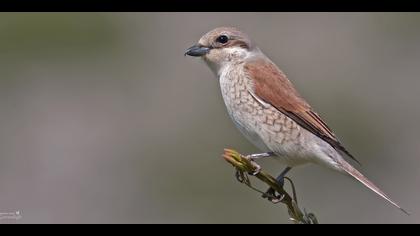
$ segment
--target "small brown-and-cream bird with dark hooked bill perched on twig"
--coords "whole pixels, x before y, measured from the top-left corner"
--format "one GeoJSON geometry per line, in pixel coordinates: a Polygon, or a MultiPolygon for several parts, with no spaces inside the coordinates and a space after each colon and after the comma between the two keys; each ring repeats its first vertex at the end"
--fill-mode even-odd
{"type": "Polygon", "coordinates": [[[353,177],[409,214],[346,160],[359,163],[247,34],[235,27],[218,27],[204,34],[184,55],[202,58],[218,78],[233,123],[262,151],[247,156],[258,170],[258,159],[278,160],[286,166],[277,177],[283,184],[290,169],[318,164],[353,177]]]}

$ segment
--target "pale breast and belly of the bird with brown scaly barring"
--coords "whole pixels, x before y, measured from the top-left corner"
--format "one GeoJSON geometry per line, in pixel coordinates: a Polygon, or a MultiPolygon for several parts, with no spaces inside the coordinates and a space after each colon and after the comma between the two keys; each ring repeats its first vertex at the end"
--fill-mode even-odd
{"type": "Polygon", "coordinates": [[[278,155],[299,155],[300,127],[273,106],[264,106],[250,93],[252,82],[242,70],[220,73],[220,88],[227,111],[238,129],[263,151],[278,155]]]}

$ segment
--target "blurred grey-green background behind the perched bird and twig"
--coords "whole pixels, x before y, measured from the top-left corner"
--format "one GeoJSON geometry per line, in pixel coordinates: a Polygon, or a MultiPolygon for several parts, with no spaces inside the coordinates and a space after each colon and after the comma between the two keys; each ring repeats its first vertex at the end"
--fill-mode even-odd
{"type": "Polygon", "coordinates": [[[290,174],[302,207],[321,223],[419,223],[419,24],[418,13],[1,13],[0,212],[22,219],[0,223],[289,223],[234,179],[223,148],[258,150],[211,71],[183,56],[217,26],[248,33],[412,215],[313,165],[290,174]]]}

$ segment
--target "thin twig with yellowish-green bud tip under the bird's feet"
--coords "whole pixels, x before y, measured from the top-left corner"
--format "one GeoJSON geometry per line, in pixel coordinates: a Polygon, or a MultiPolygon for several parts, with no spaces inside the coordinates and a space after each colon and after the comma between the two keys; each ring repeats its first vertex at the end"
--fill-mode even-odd
{"type": "Polygon", "coordinates": [[[277,180],[271,176],[270,174],[266,173],[263,170],[257,170],[255,164],[253,164],[248,158],[245,158],[242,154],[238,153],[232,149],[225,149],[223,158],[233,165],[236,169],[236,178],[239,182],[246,184],[248,187],[252,188],[253,190],[262,193],[263,198],[267,198],[272,203],[283,203],[287,206],[288,213],[290,216],[290,220],[297,224],[318,224],[318,220],[316,219],[313,213],[306,213],[304,210],[303,212],[299,209],[297,204],[297,196],[294,184],[290,178],[285,178],[290,182],[292,187],[292,196],[287,193],[282,186],[280,186],[277,180]],[[268,186],[271,187],[273,192],[263,192],[258,190],[257,188],[251,185],[251,181],[249,179],[249,173],[257,173],[255,175],[256,178],[266,183],[268,186]]]}

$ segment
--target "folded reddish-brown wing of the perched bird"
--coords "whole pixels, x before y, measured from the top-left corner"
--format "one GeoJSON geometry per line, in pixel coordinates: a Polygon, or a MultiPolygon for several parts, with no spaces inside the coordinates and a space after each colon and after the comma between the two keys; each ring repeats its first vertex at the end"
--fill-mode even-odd
{"type": "Polygon", "coordinates": [[[299,95],[292,83],[272,62],[258,59],[245,64],[246,72],[254,78],[254,93],[264,102],[298,123],[301,127],[329,143],[337,151],[356,160],[340,143],[331,129],[299,95]]]}

